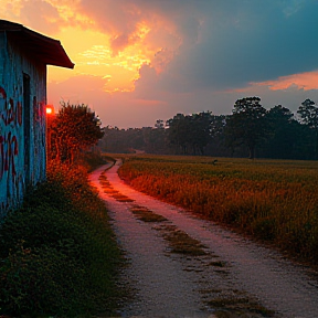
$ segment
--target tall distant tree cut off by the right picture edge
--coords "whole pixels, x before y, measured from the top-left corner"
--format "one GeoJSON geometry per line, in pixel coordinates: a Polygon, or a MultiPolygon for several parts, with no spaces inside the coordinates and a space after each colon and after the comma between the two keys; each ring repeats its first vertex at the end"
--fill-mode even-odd
{"type": "Polygon", "coordinates": [[[318,159],[318,107],[311,99],[306,99],[299,106],[297,113],[300,116],[300,123],[312,130],[315,158],[318,159]]]}

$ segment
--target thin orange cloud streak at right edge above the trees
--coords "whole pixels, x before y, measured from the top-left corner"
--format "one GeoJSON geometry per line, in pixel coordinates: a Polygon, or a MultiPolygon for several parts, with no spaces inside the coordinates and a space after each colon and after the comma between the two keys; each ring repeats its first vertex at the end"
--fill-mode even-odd
{"type": "Polygon", "coordinates": [[[290,87],[309,91],[318,89],[318,71],[278,77],[275,81],[252,83],[255,86],[268,86],[271,91],[284,91],[290,87]]]}

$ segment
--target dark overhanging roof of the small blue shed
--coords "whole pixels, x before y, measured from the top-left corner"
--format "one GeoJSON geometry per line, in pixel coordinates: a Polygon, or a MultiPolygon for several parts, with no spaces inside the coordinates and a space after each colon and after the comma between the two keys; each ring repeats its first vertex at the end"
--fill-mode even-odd
{"type": "Polygon", "coordinates": [[[60,41],[26,29],[22,24],[0,20],[0,32],[6,32],[8,39],[12,40],[25,54],[46,65],[55,65],[73,68],[71,62],[60,41]]]}

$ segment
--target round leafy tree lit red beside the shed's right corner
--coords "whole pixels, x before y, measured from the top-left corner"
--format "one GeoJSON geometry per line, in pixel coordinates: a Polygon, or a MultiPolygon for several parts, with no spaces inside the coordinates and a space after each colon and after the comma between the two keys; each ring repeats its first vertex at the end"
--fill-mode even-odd
{"type": "Polygon", "coordinates": [[[99,118],[87,105],[62,103],[61,106],[49,127],[51,130],[49,156],[72,163],[75,155],[96,145],[104,131],[99,118]]]}

